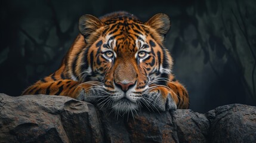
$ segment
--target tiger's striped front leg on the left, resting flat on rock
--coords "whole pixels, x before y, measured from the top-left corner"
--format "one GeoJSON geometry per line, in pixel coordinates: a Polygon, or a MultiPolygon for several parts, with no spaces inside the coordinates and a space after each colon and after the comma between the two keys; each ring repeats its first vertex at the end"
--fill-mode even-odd
{"type": "Polygon", "coordinates": [[[95,89],[95,85],[97,85],[97,82],[94,83],[93,81],[90,83],[79,83],[74,80],[39,81],[29,86],[22,95],[63,95],[77,100],[94,102],[101,95],[101,90],[95,89]]]}

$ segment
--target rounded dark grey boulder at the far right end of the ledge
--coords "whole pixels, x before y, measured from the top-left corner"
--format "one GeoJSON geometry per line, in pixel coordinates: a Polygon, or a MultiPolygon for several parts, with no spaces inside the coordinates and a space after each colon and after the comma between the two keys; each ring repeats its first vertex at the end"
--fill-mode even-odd
{"type": "Polygon", "coordinates": [[[256,107],[231,104],[215,108],[210,117],[212,142],[256,142],[256,107]]]}

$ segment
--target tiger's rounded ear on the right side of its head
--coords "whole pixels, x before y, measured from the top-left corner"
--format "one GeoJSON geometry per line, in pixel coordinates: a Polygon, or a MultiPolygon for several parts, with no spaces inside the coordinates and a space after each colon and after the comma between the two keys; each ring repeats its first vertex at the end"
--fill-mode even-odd
{"type": "Polygon", "coordinates": [[[171,27],[170,18],[163,13],[153,15],[145,24],[155,29],[163,38],[171,27]]]}

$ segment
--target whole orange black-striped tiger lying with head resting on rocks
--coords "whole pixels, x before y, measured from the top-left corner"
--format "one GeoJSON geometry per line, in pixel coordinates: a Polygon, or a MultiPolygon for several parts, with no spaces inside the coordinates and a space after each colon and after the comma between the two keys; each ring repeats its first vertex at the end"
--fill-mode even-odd
{"type": "Polygon", "coordinates": [[[125,11],[82,15],[79,35],[59,69],[22,95],[63,95],[116,113],[189,108],[188,92],[172,74],[164,46],[170,26],[163,13],[146,22],[125,11]]]}

